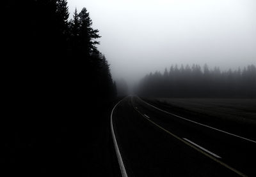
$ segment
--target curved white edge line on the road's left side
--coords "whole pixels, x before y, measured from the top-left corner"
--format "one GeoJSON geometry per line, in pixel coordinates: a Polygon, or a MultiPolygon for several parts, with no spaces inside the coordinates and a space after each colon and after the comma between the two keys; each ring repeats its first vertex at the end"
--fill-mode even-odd
{"type": "MultiPolygon", "coordinates": [[[[121,101],[123,101],[124,99],[122,99],[121,101]]],[[[127,176],[127,173],[126,173],[126,170],[125,170],[125,167],[124,167],[124,162],[123,162],[123,159],[122,159],[122,156],[121,156],[121,153],[120,153],[120,150],[118,148],[118,145],[117,145],[117,142],[116,142],[116,136],[115,136],[115,132],[114,132],[114,128],[113,128],[113,112],[116,108],[116,106],[121,102],[119,101],[115,107],[113,108],[113,110],[111,111],[111,116],[110,116],[110,126],[111,126],[111,133],[112,133],[112,138],[113,138],[113,142],[114,142],[114,145],[115,145],[115,150],[116,150],[116,156],[117,156],[117,160],[118,160],[118,164],[119,164],[119,167],[120,167],[120,171],[121,171],[121,174],[122,174],[122,177],[128,177],[127,176]]]]}

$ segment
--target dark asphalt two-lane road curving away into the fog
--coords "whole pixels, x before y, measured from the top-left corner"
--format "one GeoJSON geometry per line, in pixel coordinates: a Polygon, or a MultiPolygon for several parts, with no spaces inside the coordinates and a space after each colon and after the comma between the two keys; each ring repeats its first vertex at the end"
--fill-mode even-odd
{"type": "Polygon", "coordinates": [[[137,96],[116,104],[111,128],[122,176],[256,176],[255,139],[171,111],[137,96]]]}

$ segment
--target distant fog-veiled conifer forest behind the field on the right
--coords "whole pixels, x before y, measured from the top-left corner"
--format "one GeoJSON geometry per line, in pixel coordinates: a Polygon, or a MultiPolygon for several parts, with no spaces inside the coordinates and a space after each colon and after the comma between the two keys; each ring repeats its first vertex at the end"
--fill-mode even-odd
{"type": "Polygon", "coordinates": [[[143,78],[136,92],[145,97],[256,97],[256,67],[221,71],[205,64],[172,66],[143,78]]]}

